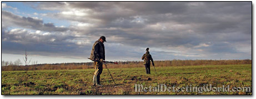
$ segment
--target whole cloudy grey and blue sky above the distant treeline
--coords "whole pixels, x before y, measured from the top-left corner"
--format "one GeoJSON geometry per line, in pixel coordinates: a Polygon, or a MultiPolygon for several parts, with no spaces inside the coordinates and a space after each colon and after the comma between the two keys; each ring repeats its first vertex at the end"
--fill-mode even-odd
{"type": "Polygon", "coordinates": [[[252,59],[252,2],[2,2],[2,60],[252,59]]]}

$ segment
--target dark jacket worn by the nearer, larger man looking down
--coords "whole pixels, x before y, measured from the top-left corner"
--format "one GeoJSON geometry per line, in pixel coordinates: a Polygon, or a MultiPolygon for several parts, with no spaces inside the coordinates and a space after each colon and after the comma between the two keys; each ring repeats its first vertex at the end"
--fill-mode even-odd
{"type": "Polygon", "coordinates": [[[90,59],[97,61],[98,59],[103,59],[105,60],[105,48],[104,48],[104,44],[97,40],[95,41],[95,43],[92,46],[92,51],[91,51],[91,55],[90,55],[90,59]]]}

